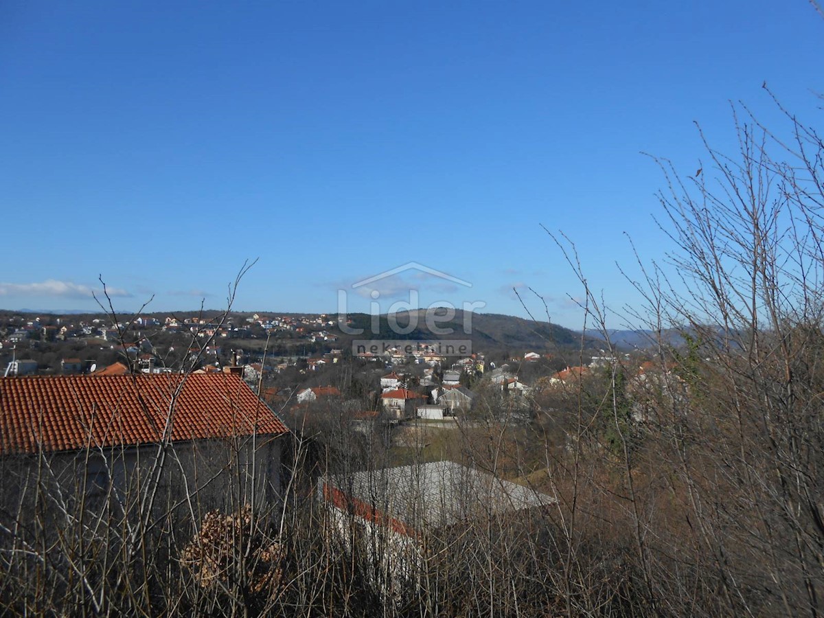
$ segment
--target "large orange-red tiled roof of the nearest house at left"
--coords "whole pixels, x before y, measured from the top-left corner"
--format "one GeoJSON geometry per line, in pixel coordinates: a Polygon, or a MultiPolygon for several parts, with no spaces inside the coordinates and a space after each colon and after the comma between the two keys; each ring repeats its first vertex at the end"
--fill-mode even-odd
{"type": "Polygon", "coordinates": [[[288,432],[231,373],[0,378],[0,454],[288,432]]]}

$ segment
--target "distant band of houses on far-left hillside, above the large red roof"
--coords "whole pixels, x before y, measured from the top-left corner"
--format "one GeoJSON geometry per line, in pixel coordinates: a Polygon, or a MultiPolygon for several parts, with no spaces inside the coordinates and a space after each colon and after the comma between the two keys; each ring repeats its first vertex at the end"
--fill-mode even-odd
{"type": "MultiPolygon", "coordinates": [[[[216,314],[217,312],[212,312],[216,314]]],[[[0,359],[7,375],[89,373],[111,363],[135,372],[253,365],[269,351],[288,353],[270,360],[276,367],[333,352],[335,322],[327,316],[105,316],[0,315],[0,359]],[[12,363],[9,366],[8,363],[12,363]]],[[[339,352],[339,349],[338,349],[339,352]]]]}

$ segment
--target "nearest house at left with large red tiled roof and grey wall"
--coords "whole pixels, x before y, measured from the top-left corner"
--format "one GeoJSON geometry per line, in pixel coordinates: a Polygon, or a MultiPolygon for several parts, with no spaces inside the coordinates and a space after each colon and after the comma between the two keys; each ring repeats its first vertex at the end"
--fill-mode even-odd
{"type": "Polygon", "coordinates": [[[20,472],[0,478],[0,503],[16,506],[40,474],[41,486],[122,508],[149,471],[158,508],[205,512],[246,502],[253,488],[276,499],[287,433],[232,373],[0,378],[0,461],[20,472]]]}

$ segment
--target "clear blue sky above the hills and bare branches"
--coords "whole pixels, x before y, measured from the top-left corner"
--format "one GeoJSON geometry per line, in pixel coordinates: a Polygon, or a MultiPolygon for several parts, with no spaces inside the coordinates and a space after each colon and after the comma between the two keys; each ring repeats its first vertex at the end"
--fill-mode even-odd
{"type": "Polygon", "coordinates": [[[693,121],[728,151],[730,101],[775,121],[763,82],[815,119],[822,58],[803,0],[2,2],[0,307],[95,307],[102,275],[120,309],[218,308],[259,258],[239,310],[525,316],[530,286],[578,328],[541,224],[639,305],[624,232],[668,248],[641,152],[693,174],[693,121]]]}

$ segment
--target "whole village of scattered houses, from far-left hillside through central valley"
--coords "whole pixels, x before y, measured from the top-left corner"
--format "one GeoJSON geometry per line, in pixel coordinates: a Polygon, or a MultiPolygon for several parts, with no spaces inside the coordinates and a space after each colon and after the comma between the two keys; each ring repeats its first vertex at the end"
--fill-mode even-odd
{"type": "Polygon", "coordinates": [[[557,347],[455,357],[414,340],[403,350],[353,353],[336,316],[326,314],[134,316],[115,323],[101,316],[0,318],[7,377],[232,372],[282,414],[305,419],[342,409],[360,424],[455,421],[490,397],[527,421],[553,391],[588,374],[620,361],[634,363],[639,380],[653,367],[639,351],[614,357],[593,349],[587,363],[570,367],[557,347]]]}

